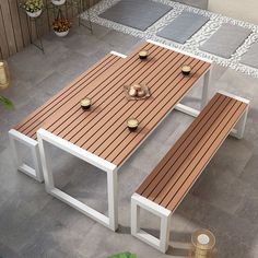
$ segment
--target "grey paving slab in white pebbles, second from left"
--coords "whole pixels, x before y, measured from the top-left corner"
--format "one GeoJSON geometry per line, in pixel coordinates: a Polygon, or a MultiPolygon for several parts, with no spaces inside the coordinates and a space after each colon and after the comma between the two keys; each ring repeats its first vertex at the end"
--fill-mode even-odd
{"type": "Polygon", "coordinates": [[[157,36],[184,44],[209,20],[209,17],[197,13],[183,12],[162,31],[160,31],[157,36]]]}

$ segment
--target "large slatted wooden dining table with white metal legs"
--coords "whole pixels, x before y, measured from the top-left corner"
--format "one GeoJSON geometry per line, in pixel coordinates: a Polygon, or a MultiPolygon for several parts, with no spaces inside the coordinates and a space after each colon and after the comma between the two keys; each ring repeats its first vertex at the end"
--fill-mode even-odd
{"type": "Polygon", "coordinates": [[[171,110],[175,108],[192,116],[199,114],[199,110],[180,104],[180,101],[204,77],[201,107],[206,105],[210,69],[209,60],[148,40],[94,80],[80,82],[66,105],[37,131],[47,192],[116,231],[118,169],[171,110]],[[139,51],[142,49],[149,52],[145,60],[139,59],[139,51]],[[191,66],[190,75],[181,73],[183,64],[191,66]],[[148,85],[151,96],[140,101],[127,99],[124,86],[134,83],[148,85]],[[92,101],[91,108],[86,110],[80,105],[84,97],[92,101]],[[127,128],[130,117],[139,120],[136,131],[127,128]],[[49,145],[107,173],[107,215],[55,186],[49,145]]]}

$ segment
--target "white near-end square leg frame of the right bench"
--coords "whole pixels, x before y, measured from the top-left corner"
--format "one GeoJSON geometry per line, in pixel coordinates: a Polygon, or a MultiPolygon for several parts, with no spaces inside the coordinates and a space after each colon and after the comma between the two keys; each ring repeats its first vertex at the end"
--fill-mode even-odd
{"type": "Polygon", "coordinates": [[[172,211],[133,194],[131,197],[131,234],[162,253],[166,253],[169,241],[172,211]],[[140,228],[140,208],[150,211],[161,219],[160,239],[140,228]]]}

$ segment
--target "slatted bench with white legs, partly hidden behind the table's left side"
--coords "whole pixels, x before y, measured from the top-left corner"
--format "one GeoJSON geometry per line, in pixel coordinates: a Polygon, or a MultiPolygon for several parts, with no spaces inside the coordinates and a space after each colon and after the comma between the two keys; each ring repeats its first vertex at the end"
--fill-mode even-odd
{"type": "MultiPolygon", "coordinates": [[[[37,181],[43,181],[43,169],[36,134],[37,130],[48,119],[51,119],[51,116],[62,105],[64,105],[70,99],[70,97],[79,93],[89,83],[97,79],[99,74],[106,72],[109,68],[113,67],[114,63],[117,63],[121,58],[126,58],[126,56],[119,52],[112,51],[104,59],[93,66],[92,69],[82,73],[67,87],[52,96],[48,102],[46,102],[43,106],[37,108],[25,119],[23,119],[16,127],[9,131],[9,139],[13,152],[13,159],[15,167],[19,171],[33,177],[37,181]],[[23,153],[21,153],[17,143],[22,144],[22,146],[28,148],[33,163],[32,166],[24,162],[24,159],[22,157],[23,153]]],[[[25,151],[23,150],[23,152],[25,151]]]]}

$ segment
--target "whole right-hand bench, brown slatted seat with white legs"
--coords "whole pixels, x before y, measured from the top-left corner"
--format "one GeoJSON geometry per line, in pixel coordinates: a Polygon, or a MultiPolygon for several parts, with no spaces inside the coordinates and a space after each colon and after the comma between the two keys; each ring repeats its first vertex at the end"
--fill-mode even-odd
{"type": "Polygon", "coordinates": [[[226,137],[243,138],[249,101],[216,93],[131,197],[131,234],[166,253],[173,212],[226,137]],[[160,238],[140,228],[140,208],[161,218],[160,238]]]}

